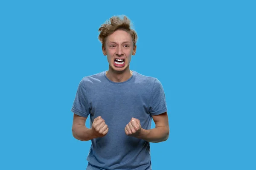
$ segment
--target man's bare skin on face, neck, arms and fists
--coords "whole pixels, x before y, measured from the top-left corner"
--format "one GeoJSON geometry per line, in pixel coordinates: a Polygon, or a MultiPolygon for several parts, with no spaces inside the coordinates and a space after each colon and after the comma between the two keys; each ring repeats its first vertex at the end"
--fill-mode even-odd
{"type": "MultiPolygon", "coordinates": [[[[130,70],[131,56],[135,55],[137,46],[133,45],[132,37],[129,33],[117,30],[109,35],[102,46],[102,52],[107,56],[109,70],[106,76],[113,82],[124,82],[132,76],[130,70]],[[125,59],[125,66],[120,68],[114,65],[115,58],[125,59]]],[[[108,133],[108,125],[101,116],[94,119],[92,127],[85,126],[85,117],[74,114],[72,132],[76,139],[88,141],[98,137],[104,137],[108,133]]],[[[163,142],[169,138],[169,121],[167,113],[152,116],[156,125],[155,128],[145,130],[141,128],[140,120],[131,118],[124,127],[125,134],[148,142],[163,142]]]]}

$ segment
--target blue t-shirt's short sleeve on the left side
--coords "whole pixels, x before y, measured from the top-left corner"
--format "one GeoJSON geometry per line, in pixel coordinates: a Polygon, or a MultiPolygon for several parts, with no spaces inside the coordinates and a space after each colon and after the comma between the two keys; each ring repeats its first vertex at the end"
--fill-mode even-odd
{"type": "Polygon", "coordinates": [[[71,111],[79,116],[88,117],[90,108],[87,101],[87,93],[84,87],[84,80],[82,79],[76,91],[76,97],[73,102],[71,111]]]}

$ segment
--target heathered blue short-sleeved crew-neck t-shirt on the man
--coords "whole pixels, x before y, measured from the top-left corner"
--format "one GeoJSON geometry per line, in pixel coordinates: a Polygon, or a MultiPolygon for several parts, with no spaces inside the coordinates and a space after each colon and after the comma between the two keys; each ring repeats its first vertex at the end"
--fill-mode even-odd
{"type": "Polygon", "coordinates": [[[152,115],[167,112],[163,86],[154,77],[133,71],[125,82],[112,82],[106,71],[84,77],[71,111],[79,116],[101,116],[108,133],[92,139],[87,170],[151,170],[150,144],[127,136],[125,126],[134,117],[143,129],[151,129],[152,115]]]}

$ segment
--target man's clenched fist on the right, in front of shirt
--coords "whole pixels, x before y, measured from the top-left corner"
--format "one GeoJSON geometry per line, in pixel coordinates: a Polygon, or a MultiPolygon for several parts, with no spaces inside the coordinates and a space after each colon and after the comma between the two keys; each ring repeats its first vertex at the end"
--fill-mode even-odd
{"type": "Polygon", "coordinates": [[[138,136],[141,131],[140,120],[131,118],[131,121],[125,126],[125,134],[128,136],[138,136]]]}

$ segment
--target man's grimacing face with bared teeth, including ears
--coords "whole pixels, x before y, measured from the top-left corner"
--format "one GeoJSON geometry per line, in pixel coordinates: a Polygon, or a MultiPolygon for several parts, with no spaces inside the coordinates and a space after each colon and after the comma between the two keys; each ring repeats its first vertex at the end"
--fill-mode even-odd
{"type": "Polygon", "coordinates": [[[117,30],[105,40],[102,47],[104,55],[107,55],[108,63],[113,71],[122,72],[129,69],[131,55],[135,55],[136,45],[133,46],[131,35],[122,30],[117,30]]]}

